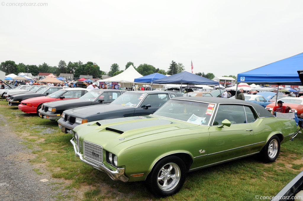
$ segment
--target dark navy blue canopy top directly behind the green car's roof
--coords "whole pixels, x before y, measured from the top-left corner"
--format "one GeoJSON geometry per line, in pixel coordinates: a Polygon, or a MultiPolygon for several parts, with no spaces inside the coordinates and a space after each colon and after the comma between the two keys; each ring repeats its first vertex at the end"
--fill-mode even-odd
{"type": "MultiPolygon", "coordinates": [[[[298,74],[298,73],[297,73],[298,74]]],[[[206,84],[206,85],[218,85],[219,82],[201,77],[199,75],[183,71],[178,74],[171,75],[169,77],[163,77],[155,80],[153,84],[206,84]]]]}

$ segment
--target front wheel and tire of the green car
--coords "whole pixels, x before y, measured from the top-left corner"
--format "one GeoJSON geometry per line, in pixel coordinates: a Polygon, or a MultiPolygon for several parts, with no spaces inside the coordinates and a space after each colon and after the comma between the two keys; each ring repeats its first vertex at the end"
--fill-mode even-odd
{"type": "Polygon", "coordinates": [[[151,170],[146,180],[150,191],[157,196],[170,196],[177,193],[186,178],[184,162],[175,156],[161,159],[151,170]]]}

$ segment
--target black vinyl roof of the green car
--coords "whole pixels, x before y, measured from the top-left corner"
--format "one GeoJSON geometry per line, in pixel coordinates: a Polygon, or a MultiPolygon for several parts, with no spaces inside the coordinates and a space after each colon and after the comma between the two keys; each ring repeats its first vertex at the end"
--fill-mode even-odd
{"type": "Polygon", "coordinates": [[[217,97],[193,97],[193,96],[183,96],[183,97],[175,97],[173,99],[182,99],[182,100],[189,100],[189,101],[201,101],[207,103],[215,103],[215,104],[243,104],[243,105],[250,105],[252,106],[255,111],[258,113],[259,117],[274,117],[268,110],[262,107],[259,104],[252,103],[250,101],[242,101],[237,99],[231,98],[217,98],[217,97]]]}

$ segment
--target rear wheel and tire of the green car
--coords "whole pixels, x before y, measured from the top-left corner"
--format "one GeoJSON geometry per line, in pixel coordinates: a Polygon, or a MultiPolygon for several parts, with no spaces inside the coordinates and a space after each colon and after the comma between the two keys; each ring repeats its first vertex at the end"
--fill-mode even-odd
{"type": "Polygon", "coordinates": [[[263,147],[261,154],[266,163],[272,163],[277,159],[279,152],[280,139],[275,135],[268,140],[265,147],[263,147]]]}

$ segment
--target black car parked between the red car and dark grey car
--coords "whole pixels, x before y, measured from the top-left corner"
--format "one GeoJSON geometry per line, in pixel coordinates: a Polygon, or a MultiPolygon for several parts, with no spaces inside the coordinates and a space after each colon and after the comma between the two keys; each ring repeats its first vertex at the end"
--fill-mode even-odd
{"type": "Polygon", "coordinates": [[[49,120],[60,119],[64,110],[69,110],[76,107],[111,103],[124,92],[126,91],[115,89],[92,90],[78,99],[44,103],[42,104],[42,108],[39,110],[39,115],[41,115],[41,118],[49,120]],[[52,112],[52,110],[54,110],[54,112],[52,112]],[[60,115],[58,116],[58,114],[60,115]]]}

